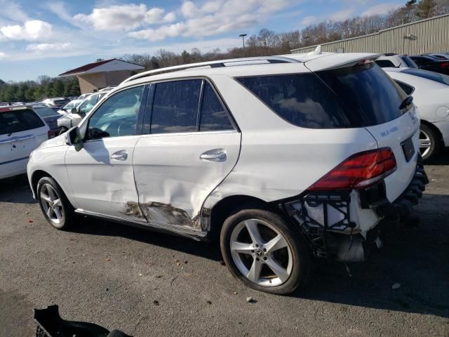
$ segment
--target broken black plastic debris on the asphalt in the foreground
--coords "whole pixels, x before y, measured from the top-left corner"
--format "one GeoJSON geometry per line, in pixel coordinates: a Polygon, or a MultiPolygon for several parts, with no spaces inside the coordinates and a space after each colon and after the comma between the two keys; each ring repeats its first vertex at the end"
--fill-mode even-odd
{"type": "Polygon", "coordinates": [[[34,309],[34,320],[37,323],[36,337],[132,337],[93,323],[66,321],[60,317],[58,305],[34,309]]]}

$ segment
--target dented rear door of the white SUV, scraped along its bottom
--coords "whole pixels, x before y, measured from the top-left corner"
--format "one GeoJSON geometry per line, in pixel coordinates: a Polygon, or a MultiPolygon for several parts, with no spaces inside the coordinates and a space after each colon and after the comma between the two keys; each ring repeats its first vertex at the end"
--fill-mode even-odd
{"type": "Polygon", "coordinates": [[[236,164],[241,133],[206,79],[152,84],[134,150],[135,183],[149,223],[199,229],[201,206],[236,164]]]}

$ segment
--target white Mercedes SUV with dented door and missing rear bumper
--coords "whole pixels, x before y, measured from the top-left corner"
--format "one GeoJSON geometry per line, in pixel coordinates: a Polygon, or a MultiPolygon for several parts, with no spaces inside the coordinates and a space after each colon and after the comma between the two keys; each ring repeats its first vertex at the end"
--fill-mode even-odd
{"type": "Polygon", "coordinates": [[[197,240],[270,293],[314,258],[363,260],[427,176],[412,98],[373,54],[182,65],[130,77],[32,153],[29,183],[58,229],[75,213],[197,240]],[[362,245],[363,244],[363,245],[362,245]]]}

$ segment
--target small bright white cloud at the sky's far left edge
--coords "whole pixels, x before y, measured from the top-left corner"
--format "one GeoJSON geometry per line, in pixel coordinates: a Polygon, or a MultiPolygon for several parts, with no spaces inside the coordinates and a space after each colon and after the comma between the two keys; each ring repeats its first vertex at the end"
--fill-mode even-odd
{"type": "Polygon", "coordinates": [[[40,40],[51,36],[52,26],[45,21],[30,20],[25,25],[0,27],[0,32],[11,40],[40,40]]]}

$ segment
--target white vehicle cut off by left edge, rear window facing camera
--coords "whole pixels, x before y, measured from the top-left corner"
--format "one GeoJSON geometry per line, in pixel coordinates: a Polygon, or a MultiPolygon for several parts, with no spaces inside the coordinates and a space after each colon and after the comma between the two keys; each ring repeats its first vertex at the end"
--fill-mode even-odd
{"type": "Polygon", "coordinates": [[[0,179],[25,173],[29,154],[54,136],[30,105],[0,107],[0,179]]]}

